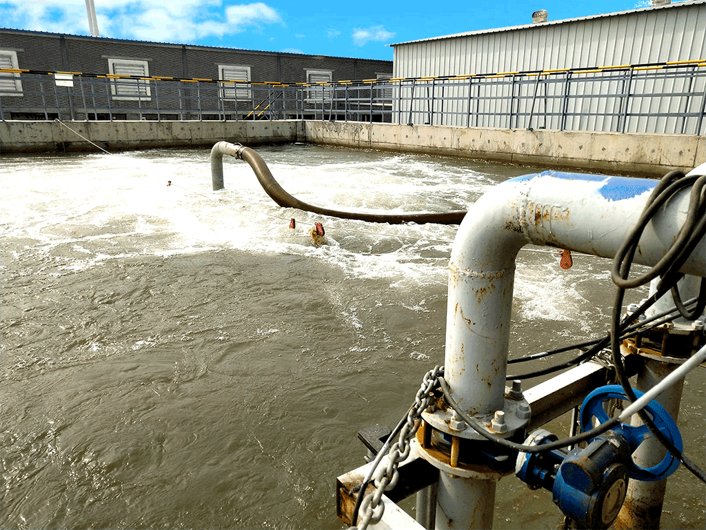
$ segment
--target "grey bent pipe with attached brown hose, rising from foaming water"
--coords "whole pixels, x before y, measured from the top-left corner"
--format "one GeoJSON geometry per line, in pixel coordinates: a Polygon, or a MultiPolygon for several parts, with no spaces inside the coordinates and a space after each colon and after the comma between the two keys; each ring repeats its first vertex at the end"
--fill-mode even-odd
{"type": "Polygon", "coordinates": [[[299,210],[320,213],[323,216],[337,217],[341,219],[357,219],[369,221],[371,223],[390,223],[398,225],[401,223],[438,223],[440,225],[460,225],[466,215],[465,211],[453,211],[446,213],[359,213],[333,210],[313,206],[296,197],[288,194],[275,180],[270,168],[265,164],[258,153],[249,147],[236,145],[226,141],[218,142],[211,149],[211,180],[213,190],[223,189],[223,155],[231,155],[235,158],[245,160],[253,168],[255,176],[263,189],[282,208],[299,208],[299,210]]]}

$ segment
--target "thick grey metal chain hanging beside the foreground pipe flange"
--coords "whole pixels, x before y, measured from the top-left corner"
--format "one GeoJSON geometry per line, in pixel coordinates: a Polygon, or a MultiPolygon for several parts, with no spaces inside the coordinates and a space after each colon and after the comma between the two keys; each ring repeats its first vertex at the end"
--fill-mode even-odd
{"type": "Polygon", "coordinates": [[[360,505],[362,514],[361,522],[358,526],[352,527],[357,530],[366,530],[369,524],[376,524],[383,518],[385,505],[381,502],[383,493],[389,491],[397,485],[400,473],[397,471],[401,461],[409,457],[412,450],[412,438],[417,434],[417,429],[421,425],[421,413],[429,406],[431,401],[431,391],[439,386],[439,377],[443,376],[443,366],[436,366],[424,375],[421,386],[414,399],[414,405],[407,413],[407,423],[400,430],[400,437],[388,452],[388,465],[379,467],[373,474],[375,491],[369,493],[360,505]]]}

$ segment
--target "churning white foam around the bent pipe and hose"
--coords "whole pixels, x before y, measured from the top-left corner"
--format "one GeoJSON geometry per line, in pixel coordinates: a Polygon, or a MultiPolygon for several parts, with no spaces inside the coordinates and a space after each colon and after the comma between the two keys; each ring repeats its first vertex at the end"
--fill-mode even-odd
{"type": "MultiPolygon", "coordinates": [[[[503,179],[416,155],[311,146],[259,152],[294,196],[351,211],[465,209],[503,179]]],[[[1,233],[30,241],[33,252],[62,254],[64,270],[136,255],[242,249],[315,257],[357,277],[400,285],[445,282],[455,227],[381,225],[283,209],[246,163],[231,158],[224,158],[226,188],[213,192],[209,154],[13,158],[0,177],[8,197],[0,206],[1,233]],[[292,217],[294,233],[287,228],[292,217]],[[315,221],[324,223],[328,245],[314,247],[306,235],[315,221]]]]}

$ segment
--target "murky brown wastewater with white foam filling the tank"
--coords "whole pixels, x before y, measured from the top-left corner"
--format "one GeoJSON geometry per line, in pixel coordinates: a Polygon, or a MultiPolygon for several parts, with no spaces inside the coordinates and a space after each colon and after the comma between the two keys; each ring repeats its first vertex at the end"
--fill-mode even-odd
{"type": "MultiPolygon", "coordinates": [[[[298,199],[353,211],[463,210],[542,170],[257,151],[298,199]]],[[[443,364],[455,226],[283,209],[233,158],[213,192],[209,154],[3,158],[2,528],[341,528],[335,477],[364,463],[358,430],[395,425],[443,364]]],[[[609,264],[559,258],[520,252],[511,356],[609,325],[609,264]]],[[[703,369],[688,376],[679,415],[701,466],[704,387],[703,369]]],[[[678,470],[662,526],[702,528],[704,498],[678,470]]],[[[549,492],[498,485],[495,528],[562,522],[549,492]]]]}

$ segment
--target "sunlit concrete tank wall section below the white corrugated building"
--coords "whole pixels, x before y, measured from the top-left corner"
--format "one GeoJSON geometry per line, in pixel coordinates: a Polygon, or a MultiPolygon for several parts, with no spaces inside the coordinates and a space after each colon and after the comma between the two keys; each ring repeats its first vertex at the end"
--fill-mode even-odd
{"type": "Polygon", "coordinates": [[[561,167],[609,175],[662,176],[706,161],[706,138],[546,129],[306,122],[306,141],[333,146],[427,153],[561,167]]]}

